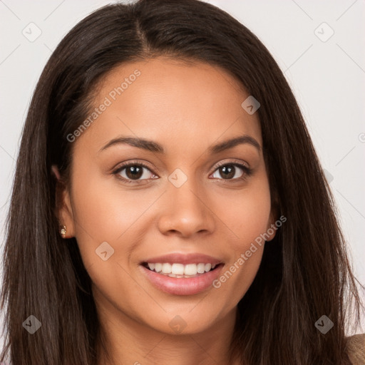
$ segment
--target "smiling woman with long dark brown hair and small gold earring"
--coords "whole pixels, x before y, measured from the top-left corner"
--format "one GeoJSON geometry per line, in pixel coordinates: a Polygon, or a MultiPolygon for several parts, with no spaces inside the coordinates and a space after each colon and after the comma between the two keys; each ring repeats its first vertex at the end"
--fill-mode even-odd
{"type": "Polygon", "coordinates": [[[13,365],[364,361],[333,197],[245,26],[140,0],[63,38],[21,141],[6,303],[13,365]]]}

